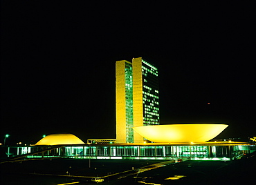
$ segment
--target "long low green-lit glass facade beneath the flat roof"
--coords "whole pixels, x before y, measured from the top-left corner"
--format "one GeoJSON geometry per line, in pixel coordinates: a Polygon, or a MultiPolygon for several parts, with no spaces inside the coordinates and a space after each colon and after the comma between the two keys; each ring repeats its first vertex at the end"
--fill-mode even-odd
{"type": "Polygon", "coordinates": [[[253,153],[255,145],[223,146],[24,146],[6,147],[9,157],[24,155],[37,157],[76,157],[93,159],[191,159],[232,160],[247,153],[253,153]],[[26,155],[28,154],[28,155],[26,155]]]}

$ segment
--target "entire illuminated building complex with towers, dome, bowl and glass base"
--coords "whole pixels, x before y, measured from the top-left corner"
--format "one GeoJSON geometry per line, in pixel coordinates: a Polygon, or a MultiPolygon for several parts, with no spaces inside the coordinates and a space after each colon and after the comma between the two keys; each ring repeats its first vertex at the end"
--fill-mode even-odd
{"type": "Polygon", "coordinates": [[[116,61],[116,139],[88,139],[84,144],[75,135],[48,135],[35,146],[3,146],[13,157],[8,162],[41,157],[233,160],[256,151],[255,143],[207,142],[226,124],[159,125],[158,101],[156,67],[142,58],[116,61]]]}

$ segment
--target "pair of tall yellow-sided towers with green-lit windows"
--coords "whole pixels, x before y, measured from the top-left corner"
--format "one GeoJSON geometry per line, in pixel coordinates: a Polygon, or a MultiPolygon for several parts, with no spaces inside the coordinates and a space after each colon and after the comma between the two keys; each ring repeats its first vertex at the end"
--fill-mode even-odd
{"type": "Polygon", "coordinates": [[[143,143],[133,127],[158,124],[158,69],[141,57],[116,61],[116,143],[143,143]]]}

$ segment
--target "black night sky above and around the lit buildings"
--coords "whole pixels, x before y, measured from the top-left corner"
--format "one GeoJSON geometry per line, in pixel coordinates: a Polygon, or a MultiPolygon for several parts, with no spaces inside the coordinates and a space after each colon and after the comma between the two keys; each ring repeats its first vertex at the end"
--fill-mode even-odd
{"type": "Polygon", "coordinates": [[[159,69],[161,124],[255,136],[254,4],[102,2],[1,1],[1,142],[115,138],[115,62],[133,57],[159,69]]]}

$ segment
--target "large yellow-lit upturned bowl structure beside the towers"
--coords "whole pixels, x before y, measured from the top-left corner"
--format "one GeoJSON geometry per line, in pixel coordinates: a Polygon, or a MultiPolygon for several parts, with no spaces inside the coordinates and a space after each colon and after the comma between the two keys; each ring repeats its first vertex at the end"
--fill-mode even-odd
{"type": "Polygon", "coordinates": [[[168,124],[136,126],[134,130],[156,143],[201,143],[213,139],[227,127],[226,124],[168,124]]]}

